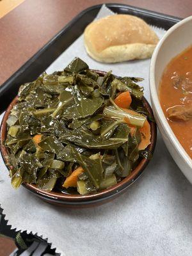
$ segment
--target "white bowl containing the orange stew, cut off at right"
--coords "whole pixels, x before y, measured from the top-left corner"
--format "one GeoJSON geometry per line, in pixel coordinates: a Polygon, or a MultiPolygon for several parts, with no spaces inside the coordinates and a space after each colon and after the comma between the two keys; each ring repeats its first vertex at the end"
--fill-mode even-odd
{"type": "MultiPolygon", "coordinates": [[[[188,156],[173,133],[159,102],[159,82],[164,68],[187,47],[192,45],[192,16],[170,28],[157,44],[150,63],[150,97],[152,109],[164,143],[180,170],[192,184],[192,159],[188,156]]],[[[158,146],[157,146],[158,147],[158,146]]]]}

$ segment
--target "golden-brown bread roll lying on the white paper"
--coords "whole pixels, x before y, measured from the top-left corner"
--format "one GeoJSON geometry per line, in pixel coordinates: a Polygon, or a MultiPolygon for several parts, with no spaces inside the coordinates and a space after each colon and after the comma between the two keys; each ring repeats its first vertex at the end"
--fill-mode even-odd
{"type": "Polygon", "coordinates": [[[84,30],[86,51],[106,63],[150,58],[158,41],[150,26],[132,15],[111,15],[93,21],[84,30]]]}

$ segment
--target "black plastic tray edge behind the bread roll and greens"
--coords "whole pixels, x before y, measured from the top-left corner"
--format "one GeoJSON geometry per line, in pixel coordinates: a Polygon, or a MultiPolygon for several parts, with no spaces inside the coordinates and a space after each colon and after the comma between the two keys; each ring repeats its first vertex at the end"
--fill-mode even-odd
{"type": "MultiPolygon", "coordinates": [[[[40,51],[36,52],[31,59],[20,67],[13,76],[0,86],[0,113],[6,109],[15,95],[17,95],[20,84],[36,79],[83,33],[84,28],[95,19],[101,6],[102,4],[92,6],[79,13],[54,38],[45,44],[40,51]]],[[[115,13],[136,15],[148,24],[159,28],[169,29],[180,21],[177,17],[151,12],[125,4],[106,4],[106,6],[115,13]]]]}

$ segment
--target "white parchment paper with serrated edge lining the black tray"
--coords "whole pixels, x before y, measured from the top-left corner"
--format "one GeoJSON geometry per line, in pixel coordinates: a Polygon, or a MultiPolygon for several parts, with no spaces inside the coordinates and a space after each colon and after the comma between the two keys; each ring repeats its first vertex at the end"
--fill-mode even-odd
{"type": "MultiPolygon", "coordinates": [[[[111,11],[103,7],[99,17],[109,14],[111,11]]],[[[154,31],[159,38],[164,34],[163,29],[154,31]]],[[[145,78],[142,85],[149,100],[150,60],[97,63],[86,54],[80,36],[47,72],[61,70],[76,56],[91,68],[145,78]]],[[[62,209],[24,188],[13,190],[8,170],[3,159],[0,161],[0,204],[8,224],[48,238],[63,256],[191,255],[192,186],[174,163],[161,136],[143,177],[113,202],[92,209],[62,209]]]]}

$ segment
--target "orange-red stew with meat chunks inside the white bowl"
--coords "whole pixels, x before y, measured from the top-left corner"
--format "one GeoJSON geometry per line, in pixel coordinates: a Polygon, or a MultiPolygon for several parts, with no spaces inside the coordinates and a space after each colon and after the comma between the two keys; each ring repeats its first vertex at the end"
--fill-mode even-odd
{"type": "Polygon", "coordinates": [[[159,88],[164,115],[192,158],[192,47],[170,61],[159,88]]]}

